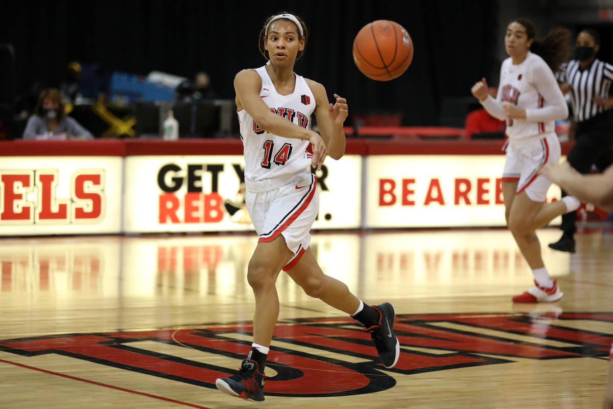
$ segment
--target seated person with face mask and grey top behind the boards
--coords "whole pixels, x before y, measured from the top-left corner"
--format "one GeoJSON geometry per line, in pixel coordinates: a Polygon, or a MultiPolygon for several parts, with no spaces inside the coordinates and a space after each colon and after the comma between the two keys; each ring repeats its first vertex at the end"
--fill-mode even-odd
{"type": "Polygon", "coordinates": [[[94,139],[87,129],[74,118],[66,117],[64,104],[56,88],[48,88],[40,93],[23,139],[94,139]]]}

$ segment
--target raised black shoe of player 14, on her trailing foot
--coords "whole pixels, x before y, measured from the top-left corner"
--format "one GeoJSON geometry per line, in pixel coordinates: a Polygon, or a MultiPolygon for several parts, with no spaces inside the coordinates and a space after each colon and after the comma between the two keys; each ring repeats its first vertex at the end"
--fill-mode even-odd
{"type": "Polygon", "coordinates": [[[389,302],[373,305],[373,308],[380,314],[379,324],[368,327],[363,331],[370,332],[370,337],[375,342],[377,353],[383,365],[386,368],[393,368],[398,362],[398,356],[400,356],[400,341],[398,341],[392,329],[396,313],[389,302]]]}

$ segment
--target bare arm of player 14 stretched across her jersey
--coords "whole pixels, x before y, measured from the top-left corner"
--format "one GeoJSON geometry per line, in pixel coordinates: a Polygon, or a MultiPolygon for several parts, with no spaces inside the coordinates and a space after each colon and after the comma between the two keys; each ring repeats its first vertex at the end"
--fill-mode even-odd
{"type": "Polygon", "coordinates": [[[322,137],[317,132],[302,128],[302,126],[286,120],[281,115],[271,112],[268,105],[262,101],[261,88],[262,78],[255,70],[245,69],[240,71],[234,77],[238,109],[245,109],[257,123],[257,126],[264,131],[286,138],[310,141],[313,145],[313,166],[321,167],[327,155],[326,144],[322,137]]]}

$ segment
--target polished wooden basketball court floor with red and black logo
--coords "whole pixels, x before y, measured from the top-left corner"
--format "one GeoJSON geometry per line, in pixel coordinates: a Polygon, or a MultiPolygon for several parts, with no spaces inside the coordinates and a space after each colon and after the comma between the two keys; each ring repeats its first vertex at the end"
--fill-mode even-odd
{"type": "Polygon", "coordinates": [[[613,342],[613,234],[550,250],[565,293],[517,305],[531,272],[504,229],[316,233],[322,268],[395,307],[378,363],[351,319],[278,280],[265,402],[214,388],[248,351],[252,234],[0,240],[0,408],[598,408],[613,342]]]}

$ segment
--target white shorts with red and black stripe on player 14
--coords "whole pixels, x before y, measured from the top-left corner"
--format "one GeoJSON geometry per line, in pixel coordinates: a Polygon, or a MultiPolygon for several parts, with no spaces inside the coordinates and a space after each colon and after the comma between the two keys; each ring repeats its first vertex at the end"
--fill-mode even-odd
{"type": "Polygon", "coordinates": [[[305,172],[297,174],[289,183],[264,190],[247,183],[245,203],[259,242],[272,242],[283,235],[287,248],[294,255],[286,266],[295,266],[311,243],[311,226],[319,212],[317,178],[305,172]],[[264,191],[262,191],[264,190],[264,191]]]}

